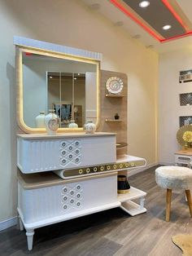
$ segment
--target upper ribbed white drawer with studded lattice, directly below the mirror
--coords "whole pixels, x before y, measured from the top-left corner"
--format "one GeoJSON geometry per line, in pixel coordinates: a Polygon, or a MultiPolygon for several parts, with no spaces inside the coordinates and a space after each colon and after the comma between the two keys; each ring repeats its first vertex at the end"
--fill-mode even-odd
{"type": "Polygon", "coordinates": [[[18,138],[17,165],[24,174],[116,161],[116,136],[73,139],[18,138]]]}

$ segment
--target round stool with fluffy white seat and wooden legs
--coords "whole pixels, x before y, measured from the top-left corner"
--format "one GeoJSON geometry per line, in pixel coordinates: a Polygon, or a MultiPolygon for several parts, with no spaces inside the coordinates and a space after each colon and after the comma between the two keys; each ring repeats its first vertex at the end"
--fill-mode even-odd
{"type": "Polygon", "coordinates": [[[190,189],[192,189],[192,170],[180,166],[161,166],[155,170],[156,183],[161,188],[167,189],[166,198],[166,221],[170,219],[172,189],[184,189],[190,216],[192,217],[192,201],[190,189]]]}

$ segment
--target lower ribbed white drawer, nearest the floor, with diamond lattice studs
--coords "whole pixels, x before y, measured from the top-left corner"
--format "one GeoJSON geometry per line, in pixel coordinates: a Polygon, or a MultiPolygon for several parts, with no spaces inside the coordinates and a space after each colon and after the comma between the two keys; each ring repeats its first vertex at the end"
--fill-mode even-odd
{"type": "Polygon", "coordinates": [[[116,201],[116,174],[46,188],[24,189],[18,185],[19,209],[25,223],[66,216],[116,201]]]}

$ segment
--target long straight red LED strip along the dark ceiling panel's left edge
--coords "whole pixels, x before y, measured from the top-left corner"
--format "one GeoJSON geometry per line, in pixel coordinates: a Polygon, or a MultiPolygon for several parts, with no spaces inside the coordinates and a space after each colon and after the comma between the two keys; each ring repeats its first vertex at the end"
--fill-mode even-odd
{"type": "Polygon", "coordinates": [[[147,27],[145,24],[142,24],[141,20],[138,20],[130,11],[128,11],[124,6],[120,4],[120,2],[116,0],[110,0],[111,3],[113,3],[117,8],[120,9],[120,11],[123,11],[124,14],[128,15],[133,21],[135,21],[137,24],[139,24],[143,29],[146,30],[146,32],[151,33],[151,36],[153,36],[155,39],[157,39],[159,42],[161,42],[162,38],[159,37],[152,29],[147,27]]]}

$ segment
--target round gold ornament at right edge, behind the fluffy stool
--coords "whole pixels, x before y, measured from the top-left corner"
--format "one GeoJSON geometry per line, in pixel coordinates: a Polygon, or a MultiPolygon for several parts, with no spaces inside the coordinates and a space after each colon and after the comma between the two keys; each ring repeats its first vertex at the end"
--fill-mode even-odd
{"type": "Polygon", "coordinates": [[[192,148],[192,125],[181,126],[177,130],[177,141],[184,148],[192,148]]]}

